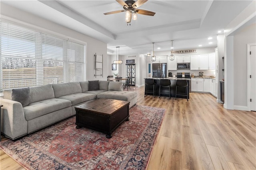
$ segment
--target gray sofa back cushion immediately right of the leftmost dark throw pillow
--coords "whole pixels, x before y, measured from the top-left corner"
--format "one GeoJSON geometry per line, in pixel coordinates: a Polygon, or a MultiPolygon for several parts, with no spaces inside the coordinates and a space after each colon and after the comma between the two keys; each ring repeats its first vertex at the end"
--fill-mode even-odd
{"type": "Polygon", "coordinates": [[[30,87],[30,103],[54,98],[52,84],[30,87]]]}

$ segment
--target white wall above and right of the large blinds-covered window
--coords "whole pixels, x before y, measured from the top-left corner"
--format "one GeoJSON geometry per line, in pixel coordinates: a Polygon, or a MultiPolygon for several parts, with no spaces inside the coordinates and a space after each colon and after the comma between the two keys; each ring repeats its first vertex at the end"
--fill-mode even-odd
{"type": "MultiPolygon", "coordinates": [[[[87,35],[78,33],[72,29],[68,29],[51,21],[45,20],[38,16],[32,15],[28,12],[24,12],[12,6],[1,3],[1,20],[9,20],[14,24],[48,33],[50,35],[58,36],[63,39],[69,39],[70,41],[77,41],[86,45],[86,79],[87,80],[106,80],[108,76],[107,66],[107,44],[89,37],[87,35]],[[95,74],[95,57],[94,54],[103,55],[103,77],[95,74]]],[[[110,67],[111,69],[111,67],[110,67]]],[[[101,74],[101,72],[98,72],[101,74]]],[[[97,73],[97,74],[98,74],[97,73]]]]}

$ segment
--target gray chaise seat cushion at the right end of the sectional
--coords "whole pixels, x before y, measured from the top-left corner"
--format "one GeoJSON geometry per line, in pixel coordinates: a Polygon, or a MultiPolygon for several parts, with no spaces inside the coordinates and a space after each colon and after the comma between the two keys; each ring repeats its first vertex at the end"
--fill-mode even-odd
{"type": "Polygon", "coordinates": [[[97,98],[130,101],[133,98],[135,98],[136,96],[137,96],[137,92],[107,91],[107,92],[98,94],[97,98]]]}

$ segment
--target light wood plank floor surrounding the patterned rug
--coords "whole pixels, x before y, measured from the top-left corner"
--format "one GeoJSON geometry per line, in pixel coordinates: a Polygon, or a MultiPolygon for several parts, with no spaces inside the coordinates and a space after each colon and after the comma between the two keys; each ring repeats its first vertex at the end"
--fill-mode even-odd
{"type": "MultiPolygon", "coordinates": [[[[166,109],[148,170],[256,169],[256,112],[224,109],[210,94],[186,99],[146,96],[138,105],[166,109]]],[[[1,150],[1,170],[23,169],[1,150]]]]}

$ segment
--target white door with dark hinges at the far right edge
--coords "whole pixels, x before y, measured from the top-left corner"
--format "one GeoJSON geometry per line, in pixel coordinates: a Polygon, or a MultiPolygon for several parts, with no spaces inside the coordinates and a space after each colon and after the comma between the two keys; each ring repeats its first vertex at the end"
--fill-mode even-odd
{"type": "Polygon", "coordinates": [[[250,111],[256,111],[256,44],[248,44],[248,98],[250,111]]]}

